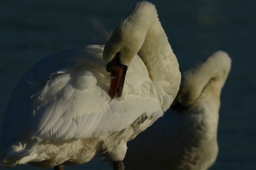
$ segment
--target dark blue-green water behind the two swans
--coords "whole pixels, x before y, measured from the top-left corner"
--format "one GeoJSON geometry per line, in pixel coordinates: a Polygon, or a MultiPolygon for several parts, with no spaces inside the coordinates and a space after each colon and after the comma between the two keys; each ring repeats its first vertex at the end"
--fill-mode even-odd
{"type": "MultiPolygon", "coordinates": [[[[48,54],[90,44],[92,37],[98,36],[92,17],[113,30],[135,2],[0,0],[0,123],[22,75],[48,54]]],[[[232,69],[221,94],[220,151],[211,170],[256,169],[256,1],[152,2],[181,72],[217,50],[226,51],[232,58],[232,69]]],[[[163,119],[156,125],[165,123],[168,128],[168,121],[163,119]]],[[[96,158],[66,169],[110,169],[108,164],[98,162],[96,158]]],[[[12,169],[37,168],[25,165],[12,169]]]]}

